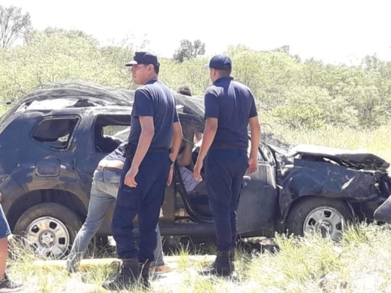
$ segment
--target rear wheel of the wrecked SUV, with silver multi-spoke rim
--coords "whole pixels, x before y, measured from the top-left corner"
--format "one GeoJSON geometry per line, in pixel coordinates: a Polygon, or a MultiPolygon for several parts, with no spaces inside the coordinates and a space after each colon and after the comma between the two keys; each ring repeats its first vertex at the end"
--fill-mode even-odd
{"type": "Polygon", "coordinates": [[[46,202],[26,210],[13,233],[23,236],[37,255],[60,259],[68,254],[80,227],[80,219],[70,209],[46,202]]]}

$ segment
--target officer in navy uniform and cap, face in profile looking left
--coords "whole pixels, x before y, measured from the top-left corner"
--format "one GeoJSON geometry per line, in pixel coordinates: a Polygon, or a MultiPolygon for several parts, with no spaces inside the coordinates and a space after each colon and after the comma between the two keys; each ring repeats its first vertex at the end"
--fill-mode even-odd
{"type": "Polygon", "coordinates": [[[135,52],[133,61],[126,66],[131,67],[133,81],[141,86],[135,91],[126,160],[111,224],[122,268],[112,280],[103,283],[109,290],[127,288],[140,276],[149,286],[160,206],[165,186],[171,184],[173,162],[182,142],[174,93],[157,80],[157,57],[135,52]],[[139,249],[133,235],[136,215],[139,249]]]}

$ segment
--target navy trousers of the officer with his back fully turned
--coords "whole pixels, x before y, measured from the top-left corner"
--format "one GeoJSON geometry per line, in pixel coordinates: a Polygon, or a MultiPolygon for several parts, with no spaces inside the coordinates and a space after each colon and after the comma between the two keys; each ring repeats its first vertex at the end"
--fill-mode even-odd
{"type": "Polygon", "coordinates": [[[243,176],[248,167],[244,150],[211,149],[205,158],[205,181],[220,251],[235,247],[236,210],[243,176]]]}

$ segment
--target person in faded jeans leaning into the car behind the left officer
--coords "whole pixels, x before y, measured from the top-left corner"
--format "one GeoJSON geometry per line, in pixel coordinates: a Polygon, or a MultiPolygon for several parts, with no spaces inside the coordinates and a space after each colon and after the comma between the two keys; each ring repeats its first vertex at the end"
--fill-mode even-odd
{"type": "MultiPolygon", "coordinates": [[[[122,167],[125,162],[125,144],[125,142],[121,143],[117,149],[105,156],[94,171],[87,218],[77,232],[71,252],[67,257],[67,270],[69,273],[77,270],[80,259],[86,252],[89,243],[99,230],[109,208],[116,201],[122,167]]],[[[166,271],[167,268],[163,260],[159,225],[156,225],[156,233],[155,260],[151,265],[155,272],[161,272],[166,271]]]]}

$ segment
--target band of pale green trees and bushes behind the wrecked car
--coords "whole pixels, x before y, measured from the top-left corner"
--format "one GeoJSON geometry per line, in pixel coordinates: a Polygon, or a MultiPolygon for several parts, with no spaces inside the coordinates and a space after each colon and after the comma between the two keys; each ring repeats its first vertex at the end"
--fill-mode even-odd
{"type": "MultiPolygon", "coordinates": [[[[0,101],[17,99],[47,82],[84,80],[107,86],[134,88],[124,63],[132,44],[100,46],[81,31],[46,28],[36,31],[30,16],[0,6],[0,101]],[[7,12],[7,13],[6,13],[7,12]],[[12,20],[10,22],[10,20],[12,20]],[[5,23],[8,21],[8,25],[5,23]],[[10,32],[13,28],[13,34],[10,32]],[[19,40],[19,44],[13,44],[19,40]]],[[[159,78],[172,89],[181,84],[202,97],[210,84],[205,44],[182,40],[172,58],[161,58],[159,78]]],[[[353,129],[387,124],[391,109],[391,63],[376,55],[358,66],[301,61],[289,46],[255,51],[232,46],[233,76],[252,89],[260,118],[291,129],[327,126],[353,129]]],[[[5,109],[3,104],[2,108],[5,109]]]]}

